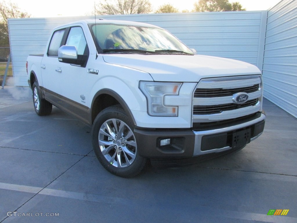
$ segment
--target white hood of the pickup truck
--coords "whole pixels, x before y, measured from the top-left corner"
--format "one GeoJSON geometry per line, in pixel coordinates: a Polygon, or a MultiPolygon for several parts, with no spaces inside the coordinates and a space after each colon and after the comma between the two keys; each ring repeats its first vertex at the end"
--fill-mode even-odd
{"type": "Polygon", "coordinates": [[[198,82],[201,78],[260,74],[249,63],[214,56],[105,54],[107,63],[147,72],[154,81],[198,82]]]}

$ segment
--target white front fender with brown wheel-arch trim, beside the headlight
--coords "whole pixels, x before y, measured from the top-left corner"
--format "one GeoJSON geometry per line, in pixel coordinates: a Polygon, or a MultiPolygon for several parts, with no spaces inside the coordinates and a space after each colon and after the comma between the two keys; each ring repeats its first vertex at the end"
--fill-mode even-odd
{"type": "Polygon", "coordinates": [[[94,100],[101,94],[108,94],[115,98],[125,109],[126,114],[130,115],[135,125],[137,121],[134,119],[133,112],[147,111],[146,98],[138,86],[140,80],[153,81],[149,73],[104,63],[98,76],[89,76],[88,80],[92,83],[90,95],[87,97],[90,98],[87,106],[91,111],[94,100]]]}

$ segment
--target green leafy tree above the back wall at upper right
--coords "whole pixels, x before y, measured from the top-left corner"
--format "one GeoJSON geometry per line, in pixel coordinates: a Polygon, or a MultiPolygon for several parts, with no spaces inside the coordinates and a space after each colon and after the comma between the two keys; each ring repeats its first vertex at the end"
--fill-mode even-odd
{"type": "Polygon", "coordinates": [[[245,11],[239,2],[229,0],[199,0],[194,3],[194,12],[245,11]]]}

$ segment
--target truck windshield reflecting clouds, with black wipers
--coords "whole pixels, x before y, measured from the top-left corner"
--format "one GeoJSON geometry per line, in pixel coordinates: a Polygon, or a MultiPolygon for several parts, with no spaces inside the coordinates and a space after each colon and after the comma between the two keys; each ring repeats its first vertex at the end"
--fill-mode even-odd
{"type": "Polygon", "coordinates": [[[164,29],[157,27],[93,24],[91,32],[103,52],[193,52],[180,40],[164,29]]]}

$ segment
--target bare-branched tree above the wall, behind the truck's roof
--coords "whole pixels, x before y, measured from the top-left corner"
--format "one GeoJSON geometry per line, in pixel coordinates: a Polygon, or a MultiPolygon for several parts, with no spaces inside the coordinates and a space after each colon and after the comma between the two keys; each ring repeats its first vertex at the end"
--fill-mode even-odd
{"type": "Polygon", "coordinates": [[[152,11],[149,0],[105,0],[97,4],[101,15],[144,14],[152,11]]]}

